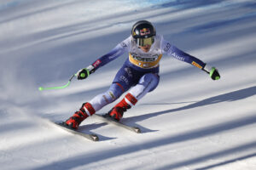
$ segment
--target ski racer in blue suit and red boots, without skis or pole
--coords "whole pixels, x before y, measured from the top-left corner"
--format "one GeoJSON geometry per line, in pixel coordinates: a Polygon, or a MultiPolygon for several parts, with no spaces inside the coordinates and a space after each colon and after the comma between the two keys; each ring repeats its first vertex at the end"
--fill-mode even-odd
{"type": "Polygon", "coordinates": [[[79,111],[76,111],[73,116],[64,122],[65,125],[77,129],[84,119],[95,114],[103,106],[119,99],[122,94],[130,89],[125,98],[107,113],[107,116],[119,121],[126,110],[131,109],[131,106],[136,105],[137,101],[142,99],[145,94],[157,87],[160,81],[160,59],[163,54],[195,65],[210,74],[212,80],[220,78],[217,69],[208,66],[200,59],[184,53],[170,42],[167,42],[162,36],[156,34],[154,26],[147,20],[137,21],[132,26],[130,37],[120,42],[108,54],[96,59],[92,65],[79,70],[77,78],[82,80],[89,77],[98,68],[108,64],[108,62],[118,58],[125,52],[128,52],[129,57],[117,72],[108,91],[98,94],[89,102],[84,103],[79,111]]]}

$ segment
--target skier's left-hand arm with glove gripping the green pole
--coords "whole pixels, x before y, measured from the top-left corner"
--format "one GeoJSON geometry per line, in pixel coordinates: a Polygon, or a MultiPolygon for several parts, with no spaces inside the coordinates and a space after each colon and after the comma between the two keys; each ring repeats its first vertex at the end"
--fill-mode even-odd
{"type": "Polygon", "coordinates": [[[103,55],[99,59],[96,59],[94,63],[89,65],[88,67],[81,69],[77,72],[77,77],[79,80],[82,80],[93,72],[95,72],[98,68],[103,65],[108,64],[113,59],[117,59],[120,55],[124,54],[125,51],[128,51],[130,48],[130,37],[126,38],[125,41],[120,42],[115,48],[113,48],[108,54],[103,55]]]}

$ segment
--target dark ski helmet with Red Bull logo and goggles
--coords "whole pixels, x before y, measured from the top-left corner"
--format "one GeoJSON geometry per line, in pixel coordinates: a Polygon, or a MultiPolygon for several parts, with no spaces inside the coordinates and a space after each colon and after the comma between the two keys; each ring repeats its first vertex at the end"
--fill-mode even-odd
{"type": "Polygon", "coordinates": [[[151,45],[154,43],[155,29],[154,26],[148,20],[137,21],[132,26],[131,36],[137,42],[138,46],[144,46],[146,44],[151,45]]]}

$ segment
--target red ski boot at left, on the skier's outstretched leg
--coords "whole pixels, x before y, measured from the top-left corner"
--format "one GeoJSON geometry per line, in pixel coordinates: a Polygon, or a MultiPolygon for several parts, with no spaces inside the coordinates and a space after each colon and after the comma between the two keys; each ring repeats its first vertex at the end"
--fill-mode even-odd
{"type": "Polygon", "coordinates": [[[67,119],[66,122],[63,122],[68,127],[73,129],[78,129],[79,124],[84,121],[88,116],[91,116],[95,113],[94,108],[90,103],[84,103],[79,111],[76,111],[73,116],[67,119]]]}

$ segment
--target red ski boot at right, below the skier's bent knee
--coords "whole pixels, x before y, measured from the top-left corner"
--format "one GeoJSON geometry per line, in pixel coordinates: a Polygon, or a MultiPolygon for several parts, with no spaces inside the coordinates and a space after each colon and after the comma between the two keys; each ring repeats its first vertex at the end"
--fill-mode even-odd
{"type": "Polygon", "coordinates": [[[115,121],[119,122],[119,120],[123,117],[124,112],[131,109],[131,105],[135,105],[136,103],[136,98],[134,98],[131,94],[126,94],[125,98],[122,99],[119,104],[115,105],[112,110],[108,111],[106,116],[109,116],[115,121]]]}

